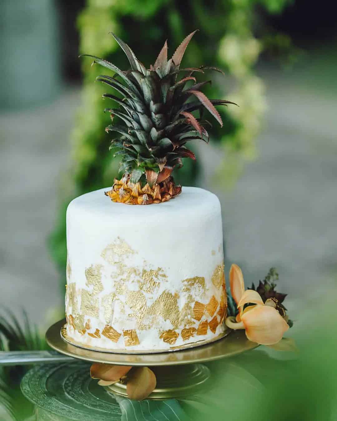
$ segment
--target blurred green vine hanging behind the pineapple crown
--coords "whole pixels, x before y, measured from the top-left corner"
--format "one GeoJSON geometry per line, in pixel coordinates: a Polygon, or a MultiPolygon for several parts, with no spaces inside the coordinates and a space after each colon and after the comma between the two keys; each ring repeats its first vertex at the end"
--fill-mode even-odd
{"type": "MultiPolygon", "coordinates": [[[[146,66],[154,59],[163,42],[170,40],[173,53],[180,40],[198,28],[184,60],[186,64],[221,67],[228,77],[209,86],[206,94],[225,94],[240,107],[219,110],[224,128],[213,128],[213,137],[224,152],[217,179],[229,184],[238,177],[244,160],[255,155],[254,137],[259,132],[265,111],[263,83],[254,73],[254,64],[262,43],[254,37],[260,26],[255,8],[269,13],[282,11],[292,0],[88,0],[78,17],[80,53],[95,54],[123,67],[125,57],[109,35],[122,37],[146,66]]],[[[62,183],[62,203],[57,226],[50,238],[53,258],[64,270],[66,265],[65,210],[69,201],[80,194],[112,185],[118,174],[118,162],[108,147],[110,138],[104,128],[108,116],[103,113],[100,94],[104,88],[93,83],[101,70],[82,61],[82,105],[72,133],[71,166],[62,183]]],[[[198,163],[185,163],[175,175],[178,182],[193,185],[198,163]]],[[[63,282],[62,282],[63,286],[63,282]]]]}

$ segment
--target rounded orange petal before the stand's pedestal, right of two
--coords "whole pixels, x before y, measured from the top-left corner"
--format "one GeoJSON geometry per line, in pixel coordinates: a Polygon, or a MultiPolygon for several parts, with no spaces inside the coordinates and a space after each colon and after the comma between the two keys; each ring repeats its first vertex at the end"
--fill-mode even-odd
{"type": "Polygon", "coordinates": [[[131,372],[126,384],[126,393],[133,400],[142,400],[149,396],[157,384],[155,373],[148,367],[139,367],[131,372]]]}

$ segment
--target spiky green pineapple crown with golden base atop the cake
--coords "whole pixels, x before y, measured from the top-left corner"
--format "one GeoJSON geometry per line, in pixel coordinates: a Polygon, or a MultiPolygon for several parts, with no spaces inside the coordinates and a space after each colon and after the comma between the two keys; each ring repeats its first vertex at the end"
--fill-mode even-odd
{"type": "Polygon", "coordinates": [[[131,48],[113,33],[111,35],[126,54],[131,69],[123,71],[109,61],[84,54],[94,58],[93,64],[101,64],[115,73],[112,77],[100,75],[96,80],[106,83],[121,95],[103,95],[103,98],[119,104],[118,108],[106,108],[104,112],[110,112],[112,121],[119,117],[125,123],[114,123],[105,129],[119,134],[112,140],[110,149],[117,149],[114,157],[120,155],[120,172],[124,175],[120,181],[115,180],[111,192],[106,193],[115,202],[159,203],[179,194],[181,187],[174,185],[171,173],[174,168],[182,167],[182,158],[195,160],[194,153],[185,144],[197,139],[209,141],[204,125],[211,123],[203,119],[204,109],[222,126],[214,105],[234,104],[222,99],[208,99],[201,88],[211,80],[198,83],[194,76],[206,69],[223,74],[222,70],[209,66],[179,69],[195,32],[182,41],[169,60],[165,41],[150,69],[146,69],[131,48]],[[180,72],[185,75],[177,80],[180,72]],[[187,87],[191,82],[192,86],[187,87]],[[192,114],[194,111],[198,111],[198,117],[192,114]]]}

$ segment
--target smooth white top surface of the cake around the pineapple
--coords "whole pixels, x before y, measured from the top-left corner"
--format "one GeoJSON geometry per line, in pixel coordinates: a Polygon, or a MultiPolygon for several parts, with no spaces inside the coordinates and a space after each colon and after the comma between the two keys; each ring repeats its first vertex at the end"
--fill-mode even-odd
{"type": "MultiPolygon", "coordinates": [[[[163,202],[156,206],[126,206],[123,203],[111,202],[104,196],[104,192],[109,189],[110,187],[107,187],[76,197],[70,202],[68,210],[77,208],[95,213],[110,213],[118,215],[119,218],[134,216],[135,214],[151,218],[168,213],[171,210],[177,210],[179,215],[182,216],[184,213],[190,213],[191,210],[196,208],[199,211],[204,209],[208,212],[212,209],[219,211],[220,208],[217,196],[199,187],[184,187],[182,193],[175,197],[174,200],[163,202]]],[[[177,217],[179,216],[177,215],[177,217]]]]}

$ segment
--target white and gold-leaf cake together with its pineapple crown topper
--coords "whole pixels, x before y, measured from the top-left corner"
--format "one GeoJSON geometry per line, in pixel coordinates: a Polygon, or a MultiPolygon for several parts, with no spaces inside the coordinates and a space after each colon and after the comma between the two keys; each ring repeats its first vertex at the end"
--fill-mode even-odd
{"type": "MultiPolygon", "coordinates": [[[[179,69],[194,32],[167,59],[167,43],[150,69],[113,35],[131,69],[97,80],[117,133],[111,148],[123,177],[67,209],[67,293],[64,337],[108,352],[161,352],[197,346],[224,335],[227,312],[221,209],[203,189],[181,187],[172,172],[195,160],[188,141],[209,141],[206,110],[222,126],[197,72],[179,69]],[[185,76],[177,80],[179,72],[185,76]],[[116,93],[116,95],[115,95],[116,93]],[[193,114],[197,112],[198,115],[193,114]],[[117,119],[117,122],[116,122],[117,119]],[[104,195],[105,193],[105,195],[104,195]]],[[[214,67],[209,69],[217,70],[214,67]]]]}

